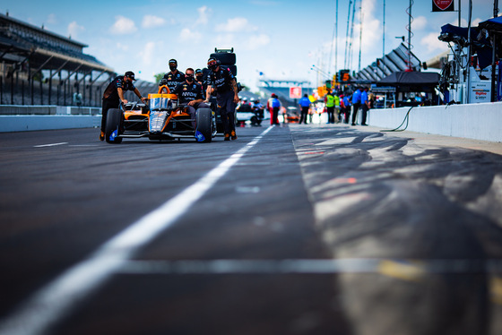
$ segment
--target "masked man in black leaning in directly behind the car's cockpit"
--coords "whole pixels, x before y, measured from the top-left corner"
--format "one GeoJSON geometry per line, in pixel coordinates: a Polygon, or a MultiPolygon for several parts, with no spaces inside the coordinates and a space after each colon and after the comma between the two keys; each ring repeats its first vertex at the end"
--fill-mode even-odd
{"type": "Polygon", "coordinates": [[[186,69],[185,82],[181,82],[176,88],[171,90],[171,93],[177,95],[177,100],[181,105],[188,105],[186,112],[192,118],[192,125],[195,127],[195,116],[198,108],[208,107],[203,103],[203,87],[198,82],[195,82],[194,69],[189,67],[186,69]]]}

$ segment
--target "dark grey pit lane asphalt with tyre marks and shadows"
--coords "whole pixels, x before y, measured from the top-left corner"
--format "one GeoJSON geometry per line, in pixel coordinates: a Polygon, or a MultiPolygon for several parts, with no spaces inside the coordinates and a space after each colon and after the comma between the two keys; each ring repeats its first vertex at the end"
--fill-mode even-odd
{"type": "MultiPolygon", "coordinates": [[[[3,320],[264,128],[204,144],[0,134],[3,320]]],[[[48,333],[498,333],[502,157],[400,136],[273,128],[48,333]]]]}

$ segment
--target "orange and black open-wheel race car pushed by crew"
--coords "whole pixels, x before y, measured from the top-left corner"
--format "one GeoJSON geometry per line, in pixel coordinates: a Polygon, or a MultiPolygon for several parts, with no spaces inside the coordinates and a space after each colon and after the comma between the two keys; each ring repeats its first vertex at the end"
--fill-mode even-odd
{"type": "Polygon", "coordinates": [[[178,104],[176,94],[169,93],[167,86],[160,86],[159,92],[149,94],[148,99],[148,105],[130,102],[108,110],[105,131],[108,143],[141,137],[158,141],[195,139],[197,142],[211,142],[216,135],[211,108],[197,109],[194,120],[186,113],[186,106],[178,104]]]}

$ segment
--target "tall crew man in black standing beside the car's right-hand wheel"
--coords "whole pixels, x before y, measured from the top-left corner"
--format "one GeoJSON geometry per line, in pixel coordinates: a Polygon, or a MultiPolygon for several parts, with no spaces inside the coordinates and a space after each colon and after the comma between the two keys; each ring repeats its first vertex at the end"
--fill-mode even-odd
{"type": "Polygon", "coordinates": [[[225,132],[225,141],[230,138],[237,140],[235,132],[235,108],[238,103],[237,82],[230,69],[221,66],[216,58],[209,58],[207,67],[211,70],[207,74],[207,90],[204,102],[211,99],[212,90],[216,90],[216,102],[218,112],[221,116],[221,123],[225,132]]]}

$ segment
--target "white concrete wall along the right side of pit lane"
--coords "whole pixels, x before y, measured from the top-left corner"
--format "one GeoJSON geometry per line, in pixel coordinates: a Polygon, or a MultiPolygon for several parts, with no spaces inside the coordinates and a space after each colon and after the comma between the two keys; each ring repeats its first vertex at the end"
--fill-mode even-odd
{"type": "MultiPolygon", "coordinates": [[[[412,132],[502,142],[502,102],[413,107],[411,110],[410,107],[371,109],[368,124],[394,129],[402,124],[408,111],[406,130],[412,132]]],[[[406,122],[400,129],[405,126],[406,122]]]]}

